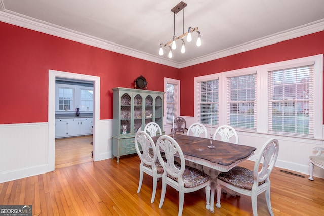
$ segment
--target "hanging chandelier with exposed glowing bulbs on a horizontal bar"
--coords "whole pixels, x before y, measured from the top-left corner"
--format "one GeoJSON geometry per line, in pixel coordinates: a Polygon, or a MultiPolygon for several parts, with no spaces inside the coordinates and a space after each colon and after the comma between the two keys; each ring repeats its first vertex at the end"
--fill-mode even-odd
{"type": "Polygon", "coordinates": [[[183,24],[184,24],[184,8],[187,6],[186,3],[184,2],[180,2],[178,5],[176,5],[175,7],[173,7],[171,9],[171,11],[173,12],[174,14],[174,19],[173,19],[173,22],[174,22],[174,32],[173,32],[173,37],[172,37],[172,40],[170,40],[169,42],[167,42],[166,44],[163,44],[161,43],[160,44],[160,49],[159,49],[159,55],[162,56],[164,54],[163,52],[163,48],[164,47],[169,47],[169,55],[168,57],[169,58],[172,58],[172,50],[175,50],[177,48],[177,45],[176,45],[176,41],[177,40],[182,40],[182,46],[181,46],[181,53],[184,53],[186,52],[186,49],[185,49],[185,42],[184,42],[184,37],[187,36],[187,42],[190,42],[192,40],[192,37],[191,37],[191,33],[192,32],[197,32],[198,33],[198,39],[197,39],[197,42],[196,42],[196,45],[198,47],[200,47],[201,45],[201,39],[200,39],[200,32],[198,31],[198,27],[195,27],[195,28],[192,28],[192,27],[189,27],[188,28],[188,32],[184,33],[184,28],[183,28],[183,24]],[[182,35],[180,35],[179,37],[176,36],[176,13],[178,13],[179,11],[182,10],[182,35]]]}

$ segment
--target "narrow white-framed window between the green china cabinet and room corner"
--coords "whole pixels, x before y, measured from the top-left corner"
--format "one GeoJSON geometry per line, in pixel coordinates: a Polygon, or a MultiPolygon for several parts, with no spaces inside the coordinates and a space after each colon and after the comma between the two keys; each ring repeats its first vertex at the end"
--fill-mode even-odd
{"type": "Polygon", "coordinates": [[[173,118],[180,115],[180,81],[164,78],[164,86],[164,91],[166,93],[164,97],[165,123],[171,124],[173,118]]]}

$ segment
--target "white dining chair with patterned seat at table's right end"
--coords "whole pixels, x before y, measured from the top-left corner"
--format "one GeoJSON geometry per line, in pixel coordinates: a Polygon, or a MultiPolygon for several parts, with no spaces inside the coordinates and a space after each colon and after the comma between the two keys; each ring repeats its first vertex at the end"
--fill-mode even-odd
{"type": "Polygon", "coordinates": [[[276,139],[269,139],[262,146],[255,161],[254,169],[236,166],[228,172],[221,172],[217,177],[217,204],[220,208],[220,198],[222,187],[226,187],[238,194],[251,197],[253,215],[258,215],[257,200],[258,195],[265,191],[265,198],[270,215],[273,211],[270,201],[270,174],[277,160],[279,153],[279,143],[276,139]],[[260,166],[260,163],[262,165],[260,166]]]}

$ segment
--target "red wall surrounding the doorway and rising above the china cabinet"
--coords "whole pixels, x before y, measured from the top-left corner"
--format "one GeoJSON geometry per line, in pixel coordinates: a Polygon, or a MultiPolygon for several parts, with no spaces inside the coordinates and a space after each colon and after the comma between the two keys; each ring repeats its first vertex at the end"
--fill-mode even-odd
{"type": "Polygon", "coordinates": [[[0,124],[48,122],[48,71],[100,76],[100,119],[112,118],[113,87],[134,87],[143,75],[149,90],[179,69],[0,22],[0,124]]]}

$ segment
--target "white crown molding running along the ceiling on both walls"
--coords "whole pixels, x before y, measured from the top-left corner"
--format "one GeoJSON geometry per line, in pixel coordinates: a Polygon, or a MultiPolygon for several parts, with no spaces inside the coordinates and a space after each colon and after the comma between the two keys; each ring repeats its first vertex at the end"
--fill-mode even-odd
{"type": "Polygon", "coordinates": [[[303,26],[299,26],[296,28],[292,28],[292,29],[289,29],[286,31],[276,33],[276,34],[272,34],[270,36],[266,36],[266,37],[259,38],[259,39],[253,40],[253,41],[249,41],[245,44],[237,45],[237,46],[225,49],[225,50],[221,50],[219,52],[215,52],[215,53],[208,54],[208,55],[196,58],[196,59],[191,59],[191,60],[179,63],[179,62],[175,62],[172,60],[159,58],[159,57],[156,57],[156,56],[148,54],[148,53],[144,53],[139,50],[121,46],[121,45],[115,44],[115,43],[107,41],[107,40],[103,40],[103,39],[100,39],[97,37],[93,37],[93,36],[90,36],[87,34],[83,34],[83,33],[73,31],[73,30],[70,30],[67,28],[63,28],[63,27],[60,27],[60,26],[57,26],[57,25],[54,25],[51,23],[33,19],[33,18],[15,13],[12,11],[8,11],[8,10],[4,9],[2,0],[0,0],[0,21],[6,22],[9,24],[13,24],[13,25],[17,25],[17,26],[20,26],[23,28],[43,32],[43,33],[50,34],[53,36],[65,38],[68,40],[80,42],[82,44],[87,44],[90,46],[102,48],[102,49],[109,50],[112,52],[124,54],[127,56],[132,56],[135,58],[143,59],[146,61],[155,62],[158,64],[167,65],[170,67],[175,67],[175,68],[184,68],[184,67],[212,61],[215,59],[223,58],[223,57],[234,55],[234,54],[241,53],[241,52],[246,52],[249,50],[253,50],[253,49],[261,48],[261,47],[268,46],[271,44],[275,44],[277,42],[281,42],[284,40],[289,40],[289,39],[293,39],[296,37],[300,37],[300,36],[304,36],[307,34],[311,34],[311,33],[315,33],[315,32],[324,30],[324,19],[322,19],[322,20],[318,20],[313,23],[309,23],[309,24],[306,24],[303,26]]]}

